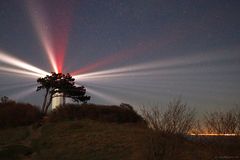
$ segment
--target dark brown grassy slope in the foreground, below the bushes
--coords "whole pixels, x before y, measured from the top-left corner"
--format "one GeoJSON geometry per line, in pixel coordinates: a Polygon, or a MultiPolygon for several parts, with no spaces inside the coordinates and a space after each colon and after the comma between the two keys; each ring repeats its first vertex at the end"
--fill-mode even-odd
{"type": "Polygon", "coordinates": [[[64,121],[2,129],[0,159],[154,160],[209,159],[204,144],[158,136],[141,124],[64,121]]]}

